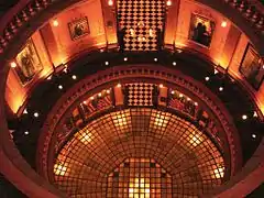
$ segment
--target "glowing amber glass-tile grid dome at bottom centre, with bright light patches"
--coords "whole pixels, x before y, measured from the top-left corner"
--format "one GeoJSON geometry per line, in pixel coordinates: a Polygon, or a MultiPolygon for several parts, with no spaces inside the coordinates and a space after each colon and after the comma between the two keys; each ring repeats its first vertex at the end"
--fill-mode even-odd
{"type": "Polygon", "coordinates": [[[69,197],[147,197],[147,185],[150,197],[152,193],[197,197],[221,185],[224,168],[215,144],[188,121],[155,109],[133,108],[106,114],[78,131],[59,151],[54,178],[69,197]],[[169,177],[155,177],[162,173],[169,177]],[[138,184],[143,178],[141,189],[138,184]],[[165,184],[172,187],[163,189],[165,184]]]}

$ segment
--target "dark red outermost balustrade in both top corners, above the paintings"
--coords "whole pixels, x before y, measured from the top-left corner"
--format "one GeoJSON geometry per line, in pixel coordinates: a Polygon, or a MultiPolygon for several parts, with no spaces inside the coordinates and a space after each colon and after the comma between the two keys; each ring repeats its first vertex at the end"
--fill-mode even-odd
{"type": "MultiPolygon", "coordinates": [[[[58,2],[61,0],[33,0],[25,1],[23,9],[18,11],[16,13],[8,13],[8,21],[6,20],[6,15],[0,21],[2,24],[0,25],[0,54],[4,52],[11,41],[19,34],[21,28],[28,24],[29,21],[33,20],[37,14],[44,12],[47,7],[51,7],[53,3],[58,2]]],[[[253,31],[261,38],[264,35],[264,7],[261,2],[256,0],[222,0],[229,7],[232,7],[237,11],[241,13],[244,18],[245,23],[250,23],[253,31]]],[[[76,2],[73,0],[74,3],[76,2]]],[[[20,4],[21,7],[21,4],[20,4]]],[[[15,10],[13,11],[15,12],[15,10]]],[[[261,41],[261,40],[260,40],[261,41]]]]}

